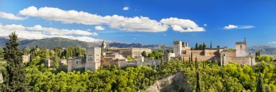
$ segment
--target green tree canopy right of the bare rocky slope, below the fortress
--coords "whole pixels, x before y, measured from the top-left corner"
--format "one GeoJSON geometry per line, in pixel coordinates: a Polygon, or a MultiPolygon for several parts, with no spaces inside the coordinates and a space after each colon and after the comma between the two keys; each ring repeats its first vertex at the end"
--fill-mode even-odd
{"type": "MultiPolygon", "coordinates": [[[[185,78],[192,91],[197,86],[195,63],[185,68],[185,78]]],[[[276,91],[276,67],[262,64],[251,67],[240,64],[227,64],[224,67],[213,62],[199,63],[200,78],[203,91],[256,91],[258,72],[263,76],[265,91],[276,91]]]]}

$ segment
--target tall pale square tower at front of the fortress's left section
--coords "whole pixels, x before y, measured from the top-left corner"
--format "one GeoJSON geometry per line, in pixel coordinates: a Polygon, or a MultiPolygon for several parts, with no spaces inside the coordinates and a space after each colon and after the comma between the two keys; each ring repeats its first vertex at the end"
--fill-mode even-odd
{"type": "Polygon", "coordinates": [[[86,64],[85,71],[94,71],[100,67],[100,47],[86,48],[86,64]]]}

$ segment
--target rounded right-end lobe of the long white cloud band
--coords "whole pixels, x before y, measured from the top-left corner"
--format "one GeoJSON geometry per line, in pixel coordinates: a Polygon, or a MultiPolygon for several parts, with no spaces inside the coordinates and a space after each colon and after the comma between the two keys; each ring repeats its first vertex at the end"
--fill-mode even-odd
{"type": "Polygon", "coordinates": [[[205,31],[204,28],[199,27],[194,21],[190,21],[188,19],[163,18],[160,22],[165,25],[171,25],[173,30],[179,32],[205,31]]]}

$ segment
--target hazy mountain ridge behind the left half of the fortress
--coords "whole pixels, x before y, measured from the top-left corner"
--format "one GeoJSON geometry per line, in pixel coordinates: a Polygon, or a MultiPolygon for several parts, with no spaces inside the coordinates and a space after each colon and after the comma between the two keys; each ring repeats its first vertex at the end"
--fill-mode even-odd
{"type": "MultiPolygon", "coordinates": [[[[35,47],[38,45],[39,47],[47,47],[47,48],[53,48],[53,47],[91,47],[91,46],[100,46],[101,41],[99,42],[84,42],[79,40],[71,40],[67,38],[45,38],[40,40],[22,40],[21,42],[21,48],[25,47],[35,47]]],[[[5,47],[5,43],[9,42],[6,38],[0,38],[0,47],[5,47]]],[[[109,47],[146,47],[151,48],[153,50],[166,50],[170,49],[171,47],[165,46],[165,45],[142,45],[140,43],[123,43],[123,42],[111,42],[111,41],[105,41],[107,42],[109,47]]]]}

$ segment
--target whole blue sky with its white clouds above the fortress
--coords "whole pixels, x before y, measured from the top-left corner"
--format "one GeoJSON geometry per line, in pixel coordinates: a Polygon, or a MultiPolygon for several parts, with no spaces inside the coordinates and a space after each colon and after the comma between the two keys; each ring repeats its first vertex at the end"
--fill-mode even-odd
{"type": "Polygon", "coordinates": [[[276,1],[0,0],[0,37],[276,46],[276,1]]]}

